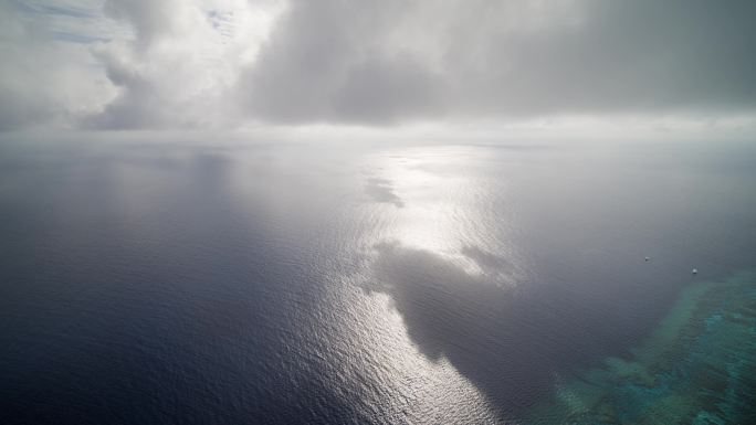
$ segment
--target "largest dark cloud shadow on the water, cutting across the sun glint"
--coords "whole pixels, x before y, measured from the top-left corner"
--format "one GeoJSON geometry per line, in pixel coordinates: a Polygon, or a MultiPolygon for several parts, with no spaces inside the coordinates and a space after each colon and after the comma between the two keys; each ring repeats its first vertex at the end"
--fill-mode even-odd
{"type": "MultiPolygon", "coordinates": [[[[447,358],[507,416],[523,413],[550,389],[557,371],[580,357],[570,343],[578,336],[565,332],[557,316],[522,302],[516,290],[496,285],[487,273],[470,274],[398,243],[379,244],[377,252],[368,289],[391,296],[428,359],[447,358]]],[[[463,252],[484,269],[502,264],[477,247],[463,252]]]]}

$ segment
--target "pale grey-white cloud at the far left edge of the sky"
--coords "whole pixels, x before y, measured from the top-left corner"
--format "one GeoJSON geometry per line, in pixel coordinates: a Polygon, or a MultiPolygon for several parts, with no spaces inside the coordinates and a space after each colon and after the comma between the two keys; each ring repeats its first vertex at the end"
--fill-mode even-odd
{"type": "Polygon", "coordinates": [[[80,39],[61,40],[70,34],[67,21],[55,18],[75,10],[34,6],[0,1],[0,131],[71,127],[74,117],[97,113],[115,95],[88,47],[80,39]]]}

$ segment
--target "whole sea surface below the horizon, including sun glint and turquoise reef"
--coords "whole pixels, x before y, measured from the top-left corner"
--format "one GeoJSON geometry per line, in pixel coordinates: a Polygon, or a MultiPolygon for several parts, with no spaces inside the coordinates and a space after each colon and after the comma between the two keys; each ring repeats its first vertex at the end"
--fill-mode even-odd
{"type": "Polygon", "coordinates": [[[754,140],[8,134],[0,423],[745,424],[755,269],[754,140]]]}

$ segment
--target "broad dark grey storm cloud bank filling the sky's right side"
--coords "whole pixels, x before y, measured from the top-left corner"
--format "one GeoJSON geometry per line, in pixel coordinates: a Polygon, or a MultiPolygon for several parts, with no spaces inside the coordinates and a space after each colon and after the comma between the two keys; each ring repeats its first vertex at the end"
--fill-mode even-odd
{"type": "Polygon", "coordinates": [[[240,89],[284,123],[749,111],[755,17],[753,1],[294,0],[240,89]]]}

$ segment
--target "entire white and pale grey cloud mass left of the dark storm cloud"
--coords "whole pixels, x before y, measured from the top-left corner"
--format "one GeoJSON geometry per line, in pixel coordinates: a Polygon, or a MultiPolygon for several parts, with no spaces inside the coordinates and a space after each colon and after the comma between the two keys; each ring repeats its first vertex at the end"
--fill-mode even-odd
{"type": "Polygon", "coordinates": [[[275,0],[0,0],[0,129],[213,128],[275,0]]]}

